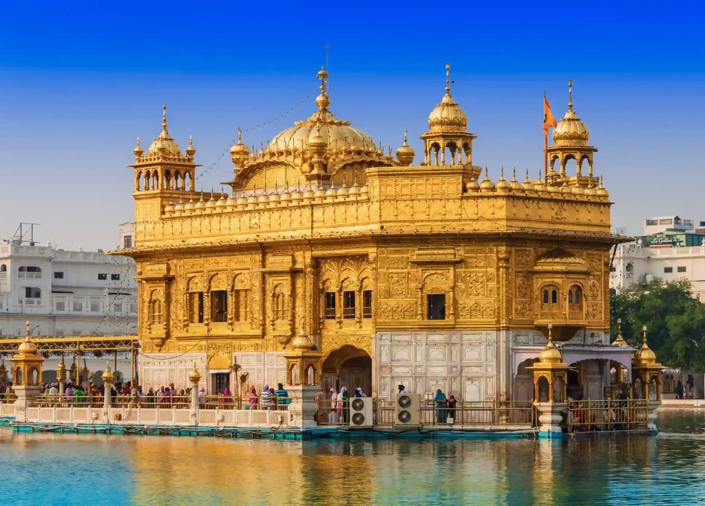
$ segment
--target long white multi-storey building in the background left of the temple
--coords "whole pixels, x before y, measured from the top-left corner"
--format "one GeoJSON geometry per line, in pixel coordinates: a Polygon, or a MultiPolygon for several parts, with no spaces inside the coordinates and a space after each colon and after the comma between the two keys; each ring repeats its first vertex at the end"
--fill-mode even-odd
{"type": "Polygon", "coordinates": [[[124,335],[137,329],[131,258],[6,241],[0,246],[0,335],[124,335]]]}

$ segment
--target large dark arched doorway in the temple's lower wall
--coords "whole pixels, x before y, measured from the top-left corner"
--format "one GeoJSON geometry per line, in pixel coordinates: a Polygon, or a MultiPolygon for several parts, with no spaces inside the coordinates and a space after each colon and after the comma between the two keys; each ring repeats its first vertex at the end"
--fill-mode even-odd
{"type": "Polygon", "coordinates": [[[331,388],[340,391],[348,388],[350,397],[357,387],[367,396],[372,396],[372,358],[367,352],[345,345],[331,352],[324,360],[321,370],[321,390],[326,395],[331,388]]]}

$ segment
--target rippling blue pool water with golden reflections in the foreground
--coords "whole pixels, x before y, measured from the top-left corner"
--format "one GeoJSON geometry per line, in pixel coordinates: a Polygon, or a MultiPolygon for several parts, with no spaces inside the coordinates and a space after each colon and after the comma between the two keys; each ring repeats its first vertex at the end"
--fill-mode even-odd
{"type": "Polygon", "coordinates": [[[705,504],[705,411],[658,437],[268,441],[13,434],[3,505],[705,504]]]}

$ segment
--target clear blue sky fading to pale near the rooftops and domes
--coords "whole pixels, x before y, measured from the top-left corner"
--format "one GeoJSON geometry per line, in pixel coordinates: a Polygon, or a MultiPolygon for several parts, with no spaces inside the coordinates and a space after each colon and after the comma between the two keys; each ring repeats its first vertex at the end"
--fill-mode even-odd
{"type": "MultiPolygon", "coordinates": [[[[159,134],[209,166],[238,125],[316,91],[331,45],[331,110],[393,149],[412,146],[443,95],[477,134],[474,162],[542,167],[541,99],[565,113],[567,82],[599,148],[614,226],[651,215],[705,220],[704,13],[698,2],[35,2],[0,4],[0,238],[20,220],[63,248],[111,249],[133,219],[132,150],[159,134]]],[[[259,146],[293,120],[245,134],[259,146]]],[[[418,158],[417,158],[418,161],[418,158]]],[[[229,157],[199,179],[231,177],[229,157]]]]}

